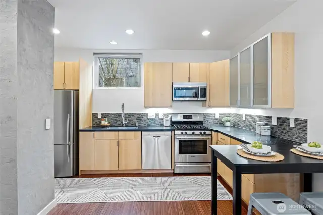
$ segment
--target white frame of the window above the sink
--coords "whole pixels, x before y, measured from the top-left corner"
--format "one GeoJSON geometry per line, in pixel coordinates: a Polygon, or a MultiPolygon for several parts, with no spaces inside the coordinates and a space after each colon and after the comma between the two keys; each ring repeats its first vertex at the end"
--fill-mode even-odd
{"type": "Polygon", "coordinates": [[[93,53],[93,89],[142,89],[143,88],[143,61],[142,53],[93,53]],[[139,58],[140,59],[140,86],[139,87],[99,87],[98,58],[139,58]]]}

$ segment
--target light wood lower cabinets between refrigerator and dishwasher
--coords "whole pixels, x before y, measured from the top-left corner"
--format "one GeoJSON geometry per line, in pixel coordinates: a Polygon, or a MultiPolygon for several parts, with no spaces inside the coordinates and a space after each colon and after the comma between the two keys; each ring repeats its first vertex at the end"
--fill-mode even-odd
{"type": "Polygon", "coordinates": [[[141,132],[80,132],[79,169],[142,169],[141,132]]]}

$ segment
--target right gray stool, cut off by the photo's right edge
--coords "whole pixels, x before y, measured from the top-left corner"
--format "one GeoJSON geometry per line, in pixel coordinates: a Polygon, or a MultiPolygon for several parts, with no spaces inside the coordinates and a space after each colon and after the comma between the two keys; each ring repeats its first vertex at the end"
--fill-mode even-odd
{"type": "Polygon", "coordinates": [[[315,215],[323,214],[323,192],[301,193],[299,204],[315,215]]]}

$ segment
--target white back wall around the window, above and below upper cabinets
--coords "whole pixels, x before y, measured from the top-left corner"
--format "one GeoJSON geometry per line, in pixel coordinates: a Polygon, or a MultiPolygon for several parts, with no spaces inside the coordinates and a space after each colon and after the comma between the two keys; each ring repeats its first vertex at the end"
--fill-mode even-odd
{"type": "MultiPolygon", "coordinates": [[[[214,62],[230,57],[230,51],[217,50],[88,50],[56,48],[55,61],[78,61],[81,57],[87,62],[93,62],[93,53],[142,53],[143,63],[214,62]]],[[[173,102],[173,108],[170,109],[145,109],[143,99],[143,87],[138,89],[96,89],[93,90],[93,113],[121,112],[122,103],[125,103],[125,111],[128,113],[160,111],[181,113],[214,112],[213,109],[202,108],[202,102],[173,102]]]]}

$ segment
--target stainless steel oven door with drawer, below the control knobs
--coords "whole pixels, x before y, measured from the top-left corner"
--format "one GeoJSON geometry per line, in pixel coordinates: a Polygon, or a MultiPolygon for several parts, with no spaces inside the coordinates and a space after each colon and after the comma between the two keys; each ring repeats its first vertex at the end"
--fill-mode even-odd
{"type": "Polygon", "coordinates": [[[175,173],[209,173],[212,135],[175,135],[175,173]]]}

